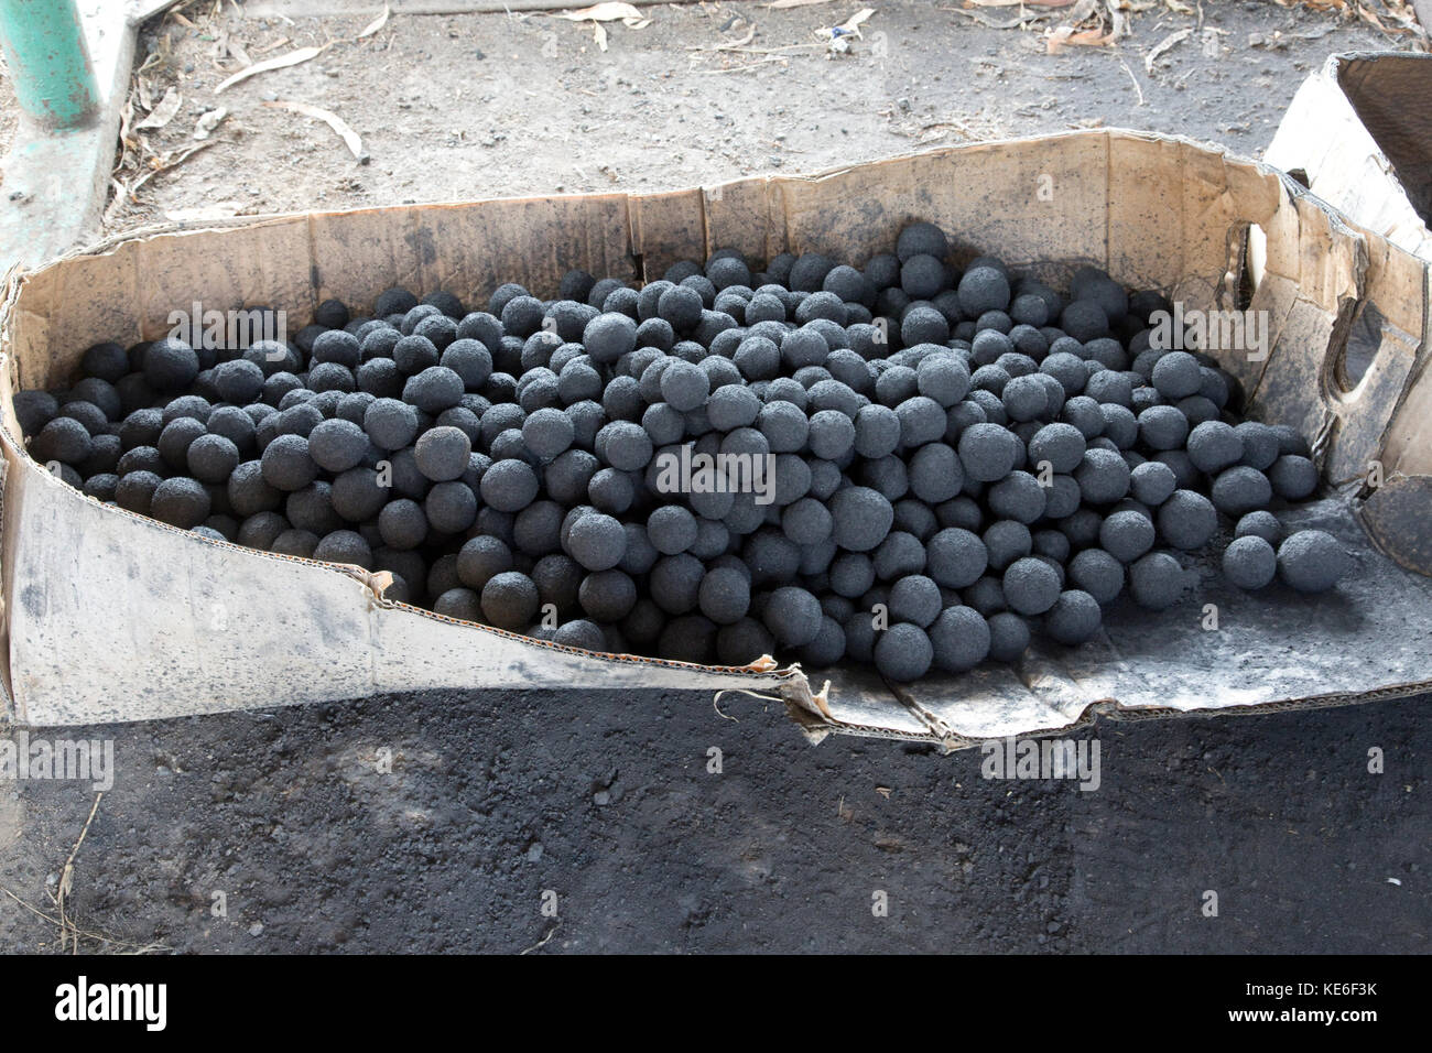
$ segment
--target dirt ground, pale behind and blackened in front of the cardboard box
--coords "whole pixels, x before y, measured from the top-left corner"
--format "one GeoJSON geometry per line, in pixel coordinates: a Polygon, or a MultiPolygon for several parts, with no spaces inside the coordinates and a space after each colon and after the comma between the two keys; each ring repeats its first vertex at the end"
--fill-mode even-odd
{"type": "MultiPolygon", "coordinates": [[[[145,96],[182,102],[130,132],[120,179],[195,146],[222,105],[219,142],[119,198],[109,232],[676,188],[1097,125],[1257,156],[1327,54],[1411,43],[1204,0],[1050,54],[1057,17],[991,29],[952,6],[881,3],[852,53],[826,57],[815,30],[859,4],[660,6],[644,29],[609,26],[606,52],[590,23],[554,17],[395,16],[354,40],[371,16],[189,4],[192,24],[156,20],[140,43],[145,96]],[[261,62],[325,43],[213,93],[239,67],[215,57],[231,44],[261,62]],[[279,100],[338,115],[367,162],[265,105],[279,100]]],[[[1428,951],[1429,703],[1101,723],[1075,735],[1101,744],[1090,792],[984,779],[978,751],[811,746],[775,709],[732,701],[725,719],[693,692],[428,693],[74,729],[115,741],[115,787],[96,807],[83,784],[0,785],[0,948],[64,948],[73,852],[63,933],[83,950],[1428,951]]]]}

